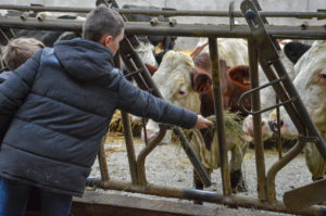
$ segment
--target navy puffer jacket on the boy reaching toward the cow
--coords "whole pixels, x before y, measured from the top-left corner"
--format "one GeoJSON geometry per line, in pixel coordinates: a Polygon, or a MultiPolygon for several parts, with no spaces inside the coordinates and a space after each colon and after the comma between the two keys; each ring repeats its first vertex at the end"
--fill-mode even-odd
{"type": "Polygon", "coordinates": [[[197,115],[134,87],[99,43],[74,39],[37,52],[0,85],[0,175],[83,195],[116,109],[191,128],[197,115]]]}

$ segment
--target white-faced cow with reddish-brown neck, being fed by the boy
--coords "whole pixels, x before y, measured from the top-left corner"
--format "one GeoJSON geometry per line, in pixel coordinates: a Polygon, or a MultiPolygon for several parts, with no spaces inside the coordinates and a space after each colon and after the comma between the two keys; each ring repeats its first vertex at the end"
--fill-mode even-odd
{"type": "MultiPolygon", "coordinates": [[[[241,60],[243,61],[243,60],[241,60]]],[[[226,61],[221,60],[221,71],[225,74],[224,77],[237,77],[233,73],[227,73],[226,61]]],[[[204,116],[213,115],[213,98],[212,98],[212,78],[211,65],[208,53],[201,53],[192,60],[191,56],[185,53],[168,51],[164,56],[159,69],[153,75],[153,80],[161,91],[163,98],[179,106],[186,107],[204,116]],[[206,104],[206,102],[209,104],[206,104]]],[[[229,71],[239,72],[240,68],[229,71]]],[[[248,71],[246,71],[248,76],[248,71]]],[[[244,73],[244,74],[246,74],[244,73]]],[[[238,78],[238,81],[241,80],[238,78]]],[[[247,86],[249,88],[249,84],[247,86]]],[[[156,123],[149,120],[147,130],[149,138],[155,135],[150,129],[156,131],[156,123]]],[[[205,131],[193,131],[190,143],[200,156],[203,165],[209,171],[220,167],[218,145],[216,144],[216,134],[206,137],[205,131]],[[213,142],[212,142],[213,140],[213,142]],[[217,157],[216,157],[217,156],[217,157]]],[[[231,185],[234,191],[243,186],[241,163],[243,158],[244,144],[241,142],[228,142],[228,149],[231,151],[231,185]]],[[[197,189],[202,189],[203,186],[197,178],[195,173],[195,186],[197,189]]],[[[243,189],[243,187],[242,187],[243,189]]]]}

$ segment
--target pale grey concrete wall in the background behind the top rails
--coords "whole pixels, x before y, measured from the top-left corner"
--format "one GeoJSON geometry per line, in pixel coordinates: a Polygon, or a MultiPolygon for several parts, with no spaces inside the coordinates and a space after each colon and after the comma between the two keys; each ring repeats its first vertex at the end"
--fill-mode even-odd
{"type": "MultiPolygon", "coordinates": [[[[153,5],[159,8],[174,8],[177,10],[202,10],[202,11],[228,11],[230,0],[116,0],[120,7],[124,4],[153,5]],[[130,3],[131,2],[131,3],[130,3]]],[[[29,5],[39,3],[47,7],[78,7],[92,8],[96,0],[0,0],[4,4],[29,5]]],[[[240,10],[242,0],[234,0],[235,11],[240,10]]],[[[326,0],[259,0],[263,11],[316,11],[326,9],[326,0]]],[[[223,17],[175,17],[178,23],[212,23],[228,24],[228,18],[223,17]]],[[[325,25],[326,21],[297,20],[297,18],[267,18],[274,25],[300,25],[303,22],[310,25],[325,25]]],[[[244,18],[236,18],[239,23],[246,23],[244,18]]],[[[195,46],[197,39],[178,39],[177,46],[187,49],[195,46]]]]}

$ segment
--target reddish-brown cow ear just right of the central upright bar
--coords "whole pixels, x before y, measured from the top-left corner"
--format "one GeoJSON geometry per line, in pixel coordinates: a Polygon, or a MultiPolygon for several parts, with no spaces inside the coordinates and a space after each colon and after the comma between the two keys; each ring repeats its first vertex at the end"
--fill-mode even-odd
{"type": "Polygon", "coordinates": [[[250,89],[249,66],[238,65],[227,71],[227,78],[236,86],[250,89]]]}

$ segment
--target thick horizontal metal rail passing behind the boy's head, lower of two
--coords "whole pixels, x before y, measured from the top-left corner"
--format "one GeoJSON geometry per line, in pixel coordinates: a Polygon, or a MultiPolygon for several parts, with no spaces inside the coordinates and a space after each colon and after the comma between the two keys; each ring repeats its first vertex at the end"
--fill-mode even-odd
{"type": "MultiPolygon", "coordinates": [[[[249,38],[252,31],[247,25],[236,25],[230,30],[229,25],[206,25],[206,24],[176,24],[174,27],[168,24],[151,26],[148,23],[126,22],[126,35],[162,35],[180,37],[223,37],[223,38],[249,38]]],[[[18,17],[0,17],[0,26],[27,29],[47,29],[47,30],[71,30],[82,31],[82,21],[66,20],[45,20],[42,22],[36,18],[22,21],[18,17]]],[[[274,38],[293,38],[293,39],[326,39],[325,26],[267,26],[268,35],[274,38]]]]}

